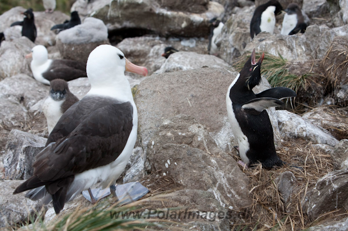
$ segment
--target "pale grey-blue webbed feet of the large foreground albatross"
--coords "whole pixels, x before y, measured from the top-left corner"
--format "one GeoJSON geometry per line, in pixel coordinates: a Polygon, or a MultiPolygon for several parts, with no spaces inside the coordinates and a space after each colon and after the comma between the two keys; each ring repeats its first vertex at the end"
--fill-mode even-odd
{"type": "Polygon", "coordinates": [[[111,194],[116,197],[117,201],[122,202],[122,204],[128,204],[139,200],[148,192],[149,190],[139,182],[130,182],[123,185],[112,185],[110,188],[106,189],[88,189],[83,191],[82,195],[92,204],[95,204],[98,200],[111,194]]]}

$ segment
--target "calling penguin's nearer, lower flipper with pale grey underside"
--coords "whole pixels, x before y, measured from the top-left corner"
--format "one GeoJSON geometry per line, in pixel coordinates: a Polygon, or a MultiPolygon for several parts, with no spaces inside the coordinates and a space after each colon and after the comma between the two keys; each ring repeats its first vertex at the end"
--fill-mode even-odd
{"type": "Polygon", "coordinates": [[[284,103],[275,98],[263,97],[252,99],[245,104],[243,104],[242,109],[249,114],[258,115],[263,110],[270,107],[280,107],[283,106],[284,103]]]}

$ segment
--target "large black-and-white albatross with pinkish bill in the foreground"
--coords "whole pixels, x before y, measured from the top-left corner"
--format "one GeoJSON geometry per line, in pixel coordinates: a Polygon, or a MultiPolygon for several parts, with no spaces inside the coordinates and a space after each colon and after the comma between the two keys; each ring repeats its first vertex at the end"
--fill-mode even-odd
{"type": "Polygon", "coordinates": [[[103,188],[115,184],[137,139],[137,108],[125,70],[147,75],[145,67],[132,64],[114,46],[100,45],[91,52],[91,90],[63,114],[35,157],[33,176],[14,194],[30,190],[27,198],[53,201],[58,214],[97,182],[103,188]]]}

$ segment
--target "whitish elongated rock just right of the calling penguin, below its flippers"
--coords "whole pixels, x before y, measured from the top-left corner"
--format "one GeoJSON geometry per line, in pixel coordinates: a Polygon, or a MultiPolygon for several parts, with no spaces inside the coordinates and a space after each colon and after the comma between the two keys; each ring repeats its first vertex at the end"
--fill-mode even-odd
{"type": "Polygon", "coordinates": [[[324,129],[286,110],[277,110],[279,131],[283,139],[302,138],[316,144],[334,147],[338,140],[324,129]]]}

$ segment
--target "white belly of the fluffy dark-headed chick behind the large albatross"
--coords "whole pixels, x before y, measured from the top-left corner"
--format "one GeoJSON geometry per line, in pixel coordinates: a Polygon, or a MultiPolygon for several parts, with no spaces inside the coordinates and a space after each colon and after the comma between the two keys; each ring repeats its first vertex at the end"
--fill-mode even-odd
{"type": "Polygon", "coordinates": [[[46,98],[42,110],[47,119],[47,126],[49,134],[52,132],[53,128],[56,126],[58,120],[62,117],[63,113],[61,106],[65,100],[55,101],[50,96],[46,98]]]}

